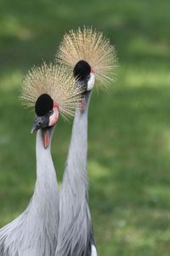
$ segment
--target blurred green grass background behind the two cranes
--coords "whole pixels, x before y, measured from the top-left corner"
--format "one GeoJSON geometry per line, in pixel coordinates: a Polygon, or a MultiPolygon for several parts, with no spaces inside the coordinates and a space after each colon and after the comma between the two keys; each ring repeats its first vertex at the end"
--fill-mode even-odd
{"type": "MultiPolygon", "coordinates": [[[[89,204],[99,255],[170,255],[169,0],[0,1],[0,226],[36,180],[34,113],[20,105],[27,69],[54,60],[63,34],[93,25],[116,45],[118,80],[89,108],[89,204]]],[[[71,123],[52,145],[62,180],[71,123]]]]}

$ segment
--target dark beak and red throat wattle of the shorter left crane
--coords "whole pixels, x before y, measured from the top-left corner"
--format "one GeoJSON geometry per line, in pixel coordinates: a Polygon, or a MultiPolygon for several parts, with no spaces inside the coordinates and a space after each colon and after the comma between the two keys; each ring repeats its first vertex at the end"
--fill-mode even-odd
{"type": "Polygon", "coordinates": [[[43,147],[48,148],[50,137],[49,137],[49,127],[48,127],[49,119],[47,116],[37,116],[32,126],[31,133],[42,129],[42,138],[43,138],[43,147]]]}

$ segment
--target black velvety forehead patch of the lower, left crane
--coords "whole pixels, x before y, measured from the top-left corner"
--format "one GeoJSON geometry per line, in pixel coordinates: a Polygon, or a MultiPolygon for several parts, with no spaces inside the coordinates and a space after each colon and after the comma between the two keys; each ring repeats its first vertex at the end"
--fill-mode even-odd
{"type": "Polygon", "coordinates": [[[53,109],[54,102],[48,94],[44,93],[37,98],[35,104],[35,111],[38,116],[43,116],[48,113],[49,110],[53,109]]]}

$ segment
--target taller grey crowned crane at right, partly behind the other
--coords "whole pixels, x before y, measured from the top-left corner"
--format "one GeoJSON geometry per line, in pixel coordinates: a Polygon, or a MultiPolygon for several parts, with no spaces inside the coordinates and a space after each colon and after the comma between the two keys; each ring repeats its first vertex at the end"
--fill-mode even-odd
{"type": "Polygon", "coordinates": [[[88,104],[94,82],[103,87],[115,80],[115,48],[92,28],[65,34],[56,56],[74,73],[82,88],[71,134],[71,143],[59,192],[59,233],[55,256],[97,256],[88,207],[88,104]]]}

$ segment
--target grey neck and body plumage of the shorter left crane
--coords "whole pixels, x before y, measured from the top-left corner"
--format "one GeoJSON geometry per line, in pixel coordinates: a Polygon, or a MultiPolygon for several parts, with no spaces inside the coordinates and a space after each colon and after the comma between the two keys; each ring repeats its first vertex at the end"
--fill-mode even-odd
{"type": "MultiPolygon", "coordinates": [[[[53,132],[52,128],[51,132],[53,132]]],[[[37,182],[26,211],[0,230],[1,256],[54,255],[59,222],[59,193],[50,147],[37,131],[37,182]]]]}

